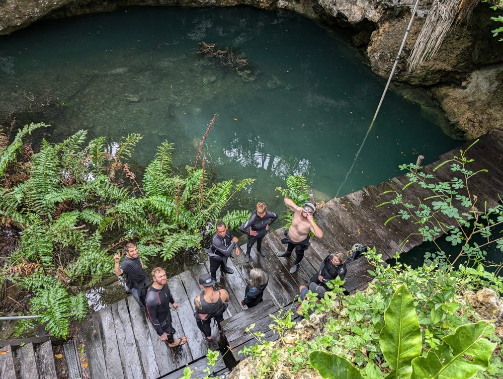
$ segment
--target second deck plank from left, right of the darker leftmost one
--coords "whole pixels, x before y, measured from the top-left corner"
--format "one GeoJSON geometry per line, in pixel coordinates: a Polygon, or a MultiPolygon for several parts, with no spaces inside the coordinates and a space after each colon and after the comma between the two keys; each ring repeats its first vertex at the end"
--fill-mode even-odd
{"type": "Polygon", "coordinates": [[[105,353],[105,364],[109,378],[124,379],[122,371],[119,346],[115,334],[114,317],[110,306],[98,311],[101,335],[103,338],[103,352],[105,353]]]}

